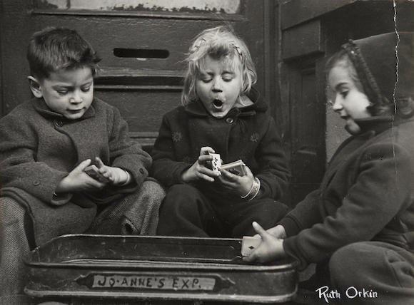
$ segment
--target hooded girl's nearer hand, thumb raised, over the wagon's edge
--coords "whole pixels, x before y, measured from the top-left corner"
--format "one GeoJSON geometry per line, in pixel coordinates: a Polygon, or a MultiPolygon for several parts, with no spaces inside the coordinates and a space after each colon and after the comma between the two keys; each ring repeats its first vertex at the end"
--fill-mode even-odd
{"type": "Polygon", "coordinates": [[[248,257],[243,257],[246,262],[272,262],[286,257],[283,249],[283,239],[278,239],[266,232],[257,222],[253,222],[253,229],[261,237],[262,242],[248,257]]]}

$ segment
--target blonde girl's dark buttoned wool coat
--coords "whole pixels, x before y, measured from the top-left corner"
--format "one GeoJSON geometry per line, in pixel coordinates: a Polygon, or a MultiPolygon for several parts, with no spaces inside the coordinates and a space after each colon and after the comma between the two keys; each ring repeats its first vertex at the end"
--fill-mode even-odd
{"type": "MultiPolygon", "coordinates": [[[[209,115],[199,100],[164,115],[152,150],[153,177],[167,187],[181,183],[181,175],[196,162],[201,148],[210,146],[223,163],[243,160],[261,181],[261,197],[280,198],[290,172],[278,128],[258,91],[253,89],[248,97],[253,105],[233,108],[224,118],[209,115]]],[[[196,187],[209,195],[240,200],[218,181],[198,182],[196,187]]]]}

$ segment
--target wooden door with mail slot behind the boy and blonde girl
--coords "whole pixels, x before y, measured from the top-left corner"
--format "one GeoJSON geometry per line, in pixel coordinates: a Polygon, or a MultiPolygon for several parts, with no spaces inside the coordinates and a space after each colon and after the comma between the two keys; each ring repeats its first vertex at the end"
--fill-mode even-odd
{"type": "Polygon", "coordinates": [[[149,148],[162,115],[180,103],[183,59],[203,29],[221,24],[236,29],[250,48],[263,91],[268,66],[263,20],[269,5],[258,0],[3,0],[0,114],[30,98],[25,56],[31,34],[65,26],[79,31],[103,58],[96,96],[115,105],[131,136],[149,148]]]}

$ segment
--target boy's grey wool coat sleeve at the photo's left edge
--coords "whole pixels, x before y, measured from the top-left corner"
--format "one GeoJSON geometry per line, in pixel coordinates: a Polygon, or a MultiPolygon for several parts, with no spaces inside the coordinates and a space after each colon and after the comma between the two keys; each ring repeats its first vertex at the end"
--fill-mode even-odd
{"type": "Polygon", "coordinates": [[[55,200],[53,194],[68,172],[36,160],[39,134],[31,121],[34,115],[15,111],[0,120],[1,187],[17,187],[51,205],[61,205],[68,200],[55,200]]]}

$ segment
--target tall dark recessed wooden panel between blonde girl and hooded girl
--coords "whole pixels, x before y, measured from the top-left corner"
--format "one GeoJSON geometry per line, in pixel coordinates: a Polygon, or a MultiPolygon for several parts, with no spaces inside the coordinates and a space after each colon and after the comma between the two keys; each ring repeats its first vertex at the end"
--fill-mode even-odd
{"type": "Polygon", "coordinates": [[[316,58],[291,63],[291,203],[318,188],[325,170],[325,104],[318,98],[316,58]]]}

